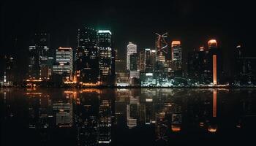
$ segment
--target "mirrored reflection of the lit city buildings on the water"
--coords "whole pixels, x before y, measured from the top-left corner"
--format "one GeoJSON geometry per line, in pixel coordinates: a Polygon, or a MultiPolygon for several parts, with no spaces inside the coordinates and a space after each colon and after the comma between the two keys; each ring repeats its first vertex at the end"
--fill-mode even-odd
{"type": "MultiPolygon", "coordinates": [[[[17,115],[15,92],[0,91],[4,121],[17,115]]],[[[225,128],[220,123],[231,116],[230,111],[237,111],[232,118],[236,119],[235,128],[246,127],[248,119],[256,115],[252,98],[255,91],[246,90],[141,88],[20,93],[26,97],[27,128],[39,132],[42,145],[48,145],[50,137],[56,137],[54,131],[61,129],[75,135],[75,145],[111,145],[121,139],[118,134],[124,129],[129,133],[143,128],[151,129],[156,143],[177,143],[177,137],[193,129],[197,129],[198,134],[219,133],[219,129],[225,128]],[[238,101],[231,101],[233,99],[225,96],[237,93],[246,98],[239,96],[238,101]]],[[[140,137],[140,133],[135,135],[140,137]]]]}

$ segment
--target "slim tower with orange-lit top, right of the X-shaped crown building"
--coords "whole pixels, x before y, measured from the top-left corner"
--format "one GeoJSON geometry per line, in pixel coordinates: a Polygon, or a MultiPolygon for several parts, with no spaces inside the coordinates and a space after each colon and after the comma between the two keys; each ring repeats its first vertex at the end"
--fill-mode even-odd
{"type": "Polygon", "coordinates": [[[173,41],[171,43],[171,52],[174,71],[182,73],[182,49],[180,41],[173,41]]]}

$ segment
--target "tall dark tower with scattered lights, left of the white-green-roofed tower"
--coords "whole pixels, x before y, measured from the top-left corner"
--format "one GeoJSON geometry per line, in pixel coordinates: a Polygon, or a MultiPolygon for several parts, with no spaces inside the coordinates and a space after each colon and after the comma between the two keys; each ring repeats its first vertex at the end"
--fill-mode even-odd
{"type": "Polygon", "coordinates": [[[99,80],[97,30],[78,29],[78,47],[75,53],[78,82],[96,83],[99,80]]]}

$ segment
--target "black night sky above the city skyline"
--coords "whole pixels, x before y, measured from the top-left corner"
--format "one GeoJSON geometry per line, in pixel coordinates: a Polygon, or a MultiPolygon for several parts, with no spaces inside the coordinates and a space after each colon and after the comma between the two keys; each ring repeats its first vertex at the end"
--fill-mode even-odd
{"type": "Polygon", "coordinates": [[[241,44],[255,55],[255,7],[251,1],[1,1],[1,50],[26,53],[36,31],[50,33],[50,48],[76,45],[78,28],[108,28],[118,55],[129,41],[138,48],[154,47],[154,32],[168,32],[187,52],[214,38],[225,66],[241,44]]]}

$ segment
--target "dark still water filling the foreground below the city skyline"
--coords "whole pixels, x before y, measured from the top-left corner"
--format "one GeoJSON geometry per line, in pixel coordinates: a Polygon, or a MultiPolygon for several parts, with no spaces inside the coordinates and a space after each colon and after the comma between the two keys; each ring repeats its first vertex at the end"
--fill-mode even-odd
{"type": "Polygon", "coordinates": [[[0,89],[1,145],[249,145],[255,93],[0,89]]]}

